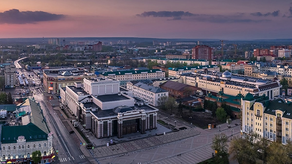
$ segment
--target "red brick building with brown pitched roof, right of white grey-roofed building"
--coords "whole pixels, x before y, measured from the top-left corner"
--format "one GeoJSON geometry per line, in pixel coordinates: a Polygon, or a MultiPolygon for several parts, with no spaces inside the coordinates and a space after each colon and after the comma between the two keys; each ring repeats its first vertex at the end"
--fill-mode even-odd
{"type": "Polygon", "coordinates": [[[171,95],[174,98],[189,97],[190,95],[194,95],[197,90],[201,90],[200,88],[171,80],[160,84],[159,87],[167,90],[168,95],[171,95]]]}

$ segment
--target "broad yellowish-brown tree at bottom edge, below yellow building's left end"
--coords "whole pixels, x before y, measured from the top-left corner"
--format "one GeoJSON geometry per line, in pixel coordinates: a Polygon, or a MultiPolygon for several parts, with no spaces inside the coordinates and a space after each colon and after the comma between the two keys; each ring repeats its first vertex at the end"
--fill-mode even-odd
{"type": "Polygon", "coordinates": [[[248,139],[235,137],[231,140],[229,154],[232,160],[239,164],[256,163],[256,151],[248,139]]]}

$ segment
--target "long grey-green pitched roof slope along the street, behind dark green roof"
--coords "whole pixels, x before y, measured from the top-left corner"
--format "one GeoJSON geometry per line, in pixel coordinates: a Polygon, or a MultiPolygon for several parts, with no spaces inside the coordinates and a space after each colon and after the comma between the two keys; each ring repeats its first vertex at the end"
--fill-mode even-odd
{"type": "Polygon", "coordinates": [[[48,125],[44,119],[43,110],[41,109],[39,103],[36,103],[34,100],[29,99],[30,108],[32,110],[31,116],[31,123],[39,127],[43,130],[46,134],[49,134],[50,130],[48,125]]]}

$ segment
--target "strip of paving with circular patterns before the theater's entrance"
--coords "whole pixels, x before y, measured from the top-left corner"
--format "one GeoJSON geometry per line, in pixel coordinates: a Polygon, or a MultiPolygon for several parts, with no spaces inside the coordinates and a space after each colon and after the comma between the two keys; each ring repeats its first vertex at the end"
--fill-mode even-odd
{"type": "Polygon", "coordinates": [[[95,157],[97,158],[117,155],[121,153],[129,153],[132,151],[147,149],[153,146],[159,146],[161,144],[178,141],[198,134],[200,134],[200,132],[195,128],[189,128],[186,130],[180,130],[178,132],[167,133],[166,135],[153,136],[112,146],[97,147],[94,149],[94,153],[95,157]]]}

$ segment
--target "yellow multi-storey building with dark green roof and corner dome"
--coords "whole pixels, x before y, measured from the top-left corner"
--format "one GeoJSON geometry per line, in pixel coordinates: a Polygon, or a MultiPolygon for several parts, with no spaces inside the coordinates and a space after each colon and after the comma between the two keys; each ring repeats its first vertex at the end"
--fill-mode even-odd
{"type": "Polygon", "coordinates": [[[270,141],[285,144],[292,138],[292,102],[269,100],[251,93],[241,99],[242,132],[248,139],[256,133],[270,141]]]}

